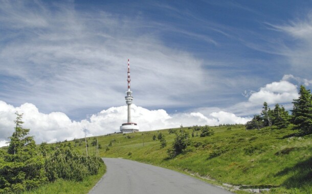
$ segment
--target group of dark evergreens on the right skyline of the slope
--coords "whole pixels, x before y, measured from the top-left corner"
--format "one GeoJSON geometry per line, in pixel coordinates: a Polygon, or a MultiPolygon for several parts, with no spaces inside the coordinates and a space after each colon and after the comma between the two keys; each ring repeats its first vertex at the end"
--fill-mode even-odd
{"type": "Polygon", "coordinates": [[[312,94],[304,86],[300,87],[299,98],[293,100],[291,115],[284,106],[275,104],[271,109],[264,102],[260,115],[254,115],[253,119],[246,123],[246,129],[260,129],[263,127],[276,126],[279,129],[287,128],[293,124],[301,134],[312,133],[312,94]]]}

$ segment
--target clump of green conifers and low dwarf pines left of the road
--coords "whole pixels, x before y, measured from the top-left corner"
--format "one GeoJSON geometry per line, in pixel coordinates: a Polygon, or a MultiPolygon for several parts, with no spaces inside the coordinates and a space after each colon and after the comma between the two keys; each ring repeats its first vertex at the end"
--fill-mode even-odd
{"type": "Polygon", "coordinates": [[[57,179],[82,181],[98,174],[103,161],[73,152],[71,146],[36,146],[30,129],[23,128],[23,114],[16,120],[10,145],[0,150],[0,193],[19,193],[57,179]]]}

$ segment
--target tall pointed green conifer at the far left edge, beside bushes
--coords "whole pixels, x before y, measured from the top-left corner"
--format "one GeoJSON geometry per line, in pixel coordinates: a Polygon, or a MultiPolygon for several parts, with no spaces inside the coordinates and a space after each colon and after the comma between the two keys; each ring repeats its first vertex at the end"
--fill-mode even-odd
{"type": "Polygon", "coordinates": [[[20,193],[37,187],[48,179],[44,171],[44,158],[38,154],[29,129],[24,129],[23,114],[16,114],[16,126],[10,137],[10,145],[5,160],[0,165],[0,193],[20,193]]]}

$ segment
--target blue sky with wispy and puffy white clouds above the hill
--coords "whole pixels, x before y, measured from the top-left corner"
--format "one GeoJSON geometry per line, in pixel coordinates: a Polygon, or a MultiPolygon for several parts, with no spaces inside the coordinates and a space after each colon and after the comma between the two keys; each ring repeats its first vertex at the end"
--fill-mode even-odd
{"type": "Polygon", "coordinates": [[[0,0],[0,147],[244,124],[312,89],[312,1],[0,0]]]}

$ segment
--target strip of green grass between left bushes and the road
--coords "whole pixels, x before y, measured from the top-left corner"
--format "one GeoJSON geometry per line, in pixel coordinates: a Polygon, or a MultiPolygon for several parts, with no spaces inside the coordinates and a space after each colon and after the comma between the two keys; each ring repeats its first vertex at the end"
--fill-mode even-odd
{"type": "Polygon", "coordinates": [[[81,182],[58,179],[55,182],[47,183],[36,189],[23,192],[23,194],[85,194],[95,186],[95,184],[101,179],[105,172],[106,166],[102,164],[97,175],[89,176],[81,182]]]}

